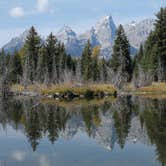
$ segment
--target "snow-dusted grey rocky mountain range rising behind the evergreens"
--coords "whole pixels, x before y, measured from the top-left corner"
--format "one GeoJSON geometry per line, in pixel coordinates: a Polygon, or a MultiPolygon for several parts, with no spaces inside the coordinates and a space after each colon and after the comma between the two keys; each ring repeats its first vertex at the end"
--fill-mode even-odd
{"type": "MultiPolygon", "coordinates": [[[[145,19],[140,22],[132,21],[123,25],[125,33],[131,45],[131,54],[134,55],[140,44],[144,43],[149,33],[154,29],[154,20],[145,19]]],[[[110,58],[114,40],[116,38],[117,26],[112,16],[103,17],[90,30],[83,34],[77,34],[69,26],[64,26],[55,35],[57,39],[65,44],[68,54],[72,56],[80,56],[87,40],[89,39],[92,47],[101,47],[101,56],[110,58]]],[[[18,37],[13,38],[4,47],[4,51],[13,53],[23,47],[28,30],[18,37]]]]}

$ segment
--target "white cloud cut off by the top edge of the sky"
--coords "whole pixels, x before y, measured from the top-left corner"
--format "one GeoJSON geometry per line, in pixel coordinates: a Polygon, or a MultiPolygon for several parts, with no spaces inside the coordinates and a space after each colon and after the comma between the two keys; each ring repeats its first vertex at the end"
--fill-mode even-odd
{"type": "Polygon", "coordinates": [[[37,0],[37,10],[40,13],[47,12],[49,10],[49,0],[37,0]]]}

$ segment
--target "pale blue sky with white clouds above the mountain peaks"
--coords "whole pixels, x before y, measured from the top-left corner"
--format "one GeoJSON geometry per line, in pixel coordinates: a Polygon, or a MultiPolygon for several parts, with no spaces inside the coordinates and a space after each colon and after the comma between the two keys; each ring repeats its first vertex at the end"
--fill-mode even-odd
{"type": "Polygon", "coordinates": [[[0,46],[34,25],[41,34],[69,25],[76,32],[105,15],[115,23],[153,17],[166,0],[0,0],[0,46]]]}

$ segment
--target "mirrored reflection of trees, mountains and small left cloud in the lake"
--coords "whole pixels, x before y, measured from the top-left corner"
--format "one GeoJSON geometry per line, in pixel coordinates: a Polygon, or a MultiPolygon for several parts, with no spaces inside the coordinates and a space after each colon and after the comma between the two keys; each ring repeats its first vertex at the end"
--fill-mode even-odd
{"type": "MultiPolygon", "coordinates": [[[[0,124],[21,131],[33,151],[43,138],[52,144],[60,138],[72,140],[86,133],[102,147],[114,151],[128,142],[155,146],[156,160],[166,165],[166,100],[119,97],[114,101],[80,103],[41,103],[34,99],[0,102],[0,124]],[[84,104],[83,104],[84,103],[84,104]]],[[[24,152],[25,153],[25,152],[24,152]]],[[[17,160],[25,154],[16,151],[17,160]]]]}

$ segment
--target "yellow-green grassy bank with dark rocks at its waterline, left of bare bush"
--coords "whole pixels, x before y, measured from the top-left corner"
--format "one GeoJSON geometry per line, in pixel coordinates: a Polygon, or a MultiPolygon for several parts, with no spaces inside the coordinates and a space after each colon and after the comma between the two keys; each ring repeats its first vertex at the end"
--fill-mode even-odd
{"type": "Polygon", "coordinates": [[[75,86],[71,84],[61,85],[29,85],[24,87],[19,84],[12,85],[11,90],[14,94],[38,94],[52,98],[93,98],[116,94],[116,89],[111,84],[88,84],[75,86]]]}

